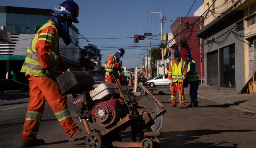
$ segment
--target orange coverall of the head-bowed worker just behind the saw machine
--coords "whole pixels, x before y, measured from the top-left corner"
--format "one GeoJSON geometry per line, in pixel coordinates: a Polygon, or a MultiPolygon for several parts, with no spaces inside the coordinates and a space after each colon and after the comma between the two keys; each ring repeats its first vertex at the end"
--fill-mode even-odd
{"type": "MultiPolygon", "coordinates": [[[[115,57],[115,59],[117,59],[117,57],[115,57]]],[[[110,67],[110,65],[111,65],[112,63],[114,63],[114,59],[113,59],[112,55],[109,56],[108,61],[109,61],[109,62],[108,62],[108,63],[109,63],[108,67],[110,67]]],[[[117,61],[117,60],[116,60],[116,61],[117,61]]],[[[121,72],[121,68],[119,68],[118,63],[114,63],[113,68],[118,68],[118,71],[121,72]]],[[[118,82],[120,88],[122,89],[119,75],[117,74],[117,75],[115,75],[115,77],[116,77],[116,80],[117,80],[117,82],[118,82]]],[[[105,74],[105,82],[106,82],[106,83],[115,83],[114,77],[113,77],[112,75],[105,74]]],[[[115,83],[115,85],[116,85],[116,83],[115,83]]],[[[116,86],[117,86],[117,85],[116,85],[116,86]]],[[[120,94],[120,97],[122,97],[121,94],[120,94]]],[[[119,100],[120,100],[120,99],[119,99],[119,100]]],[[[120,101],[121,101],[121,100],[120,100],[120,101]]]]}

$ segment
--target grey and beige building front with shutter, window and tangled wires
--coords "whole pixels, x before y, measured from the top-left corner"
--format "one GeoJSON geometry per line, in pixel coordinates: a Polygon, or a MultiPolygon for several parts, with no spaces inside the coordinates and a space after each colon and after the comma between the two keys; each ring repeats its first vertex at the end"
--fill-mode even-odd
{"type": "Polygon", "coordinates": [[[255,0],[204,0],[205,27],[197,37],[204,39],[205,86],[239,92],[256,71],[255,6],[255,0]]]}

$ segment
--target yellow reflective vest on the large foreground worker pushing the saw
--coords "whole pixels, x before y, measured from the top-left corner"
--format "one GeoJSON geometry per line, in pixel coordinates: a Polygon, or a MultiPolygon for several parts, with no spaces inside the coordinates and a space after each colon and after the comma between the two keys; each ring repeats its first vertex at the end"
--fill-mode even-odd
{"type": "MultiPolygon", "coordinates": [[[[44,74],[42,73],[42,67],[41,64],[39,62],[38,59],[38,55],[37,52],[35,50],[35,45],[37,43],[38,40],[46,40],[50,43],[52,43],[52,47],[51,49],[49,49],[49,55],[50,55],[50,61],[53,67],[54,71],[58,71],[59,70],[59,65],[60,65],[60,58],[59,58],[59,32],[57,30],[56,25],[53,22],[48,22],[46,24],[44,24],[38,31],[37,34],[34,36],[34,38],[32,39],[27,53],[26,53],[26,58],[25,58],[25,62],[22,65],[21,68],[21,73],[27,73],[30,74],[32,76],[37,76],[37,77],[46,77],[44,76],[44,74]],[[40,36],[38,36],[38,33],[45,29],[46,27],[54,27],[56,29],[56,33],[55,36],[53,36],[50,33],[41,33],[40,36]]],[[[57,78],[59,75],[54,74],[53,76],[51,76],[50,78],[57,78]]]]}

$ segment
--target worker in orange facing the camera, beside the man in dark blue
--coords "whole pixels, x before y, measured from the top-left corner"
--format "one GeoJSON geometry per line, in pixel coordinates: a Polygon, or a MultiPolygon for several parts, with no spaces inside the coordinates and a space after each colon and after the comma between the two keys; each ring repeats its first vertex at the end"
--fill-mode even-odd
{"type": "MultiPolygon", "coordinates": [[[[169,72],[168,72],[168,79],[170,80],[171,91],[172,91],[171,107],[176,107],[177,105],[177,102],[176,102],[177,89],[179,90],[179,98],[180,98],[182,81],[186,79],[186,73],[187,73],[185,62],[180,61],[180,52],[178,50],[174,51],[174,56],[175,56],[175,60],[170,62],[169,72]]],[[[184,92],[184,87],[183,87],[183,92],[184,92]]],[[[182,97],[181,97],[181,108],[187,108],[185,106],[184,93],[182,94],[182,97]]]]}

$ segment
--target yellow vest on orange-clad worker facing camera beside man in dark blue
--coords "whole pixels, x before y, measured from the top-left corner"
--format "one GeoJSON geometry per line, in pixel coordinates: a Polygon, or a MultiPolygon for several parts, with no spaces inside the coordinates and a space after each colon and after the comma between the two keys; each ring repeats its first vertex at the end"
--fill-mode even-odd
{"type": "Polygon", "coordinates": [[[185,62],[180,61],[177,67],[174,61],[171,61],[171,66],[172,66],[172,72],[169,72],[168,75],[172,75],[173,82],[177,82],[177,81],[182,82],[182,75],[186,74],[186,72],[183,73],[185,68],[185,62]]]}

